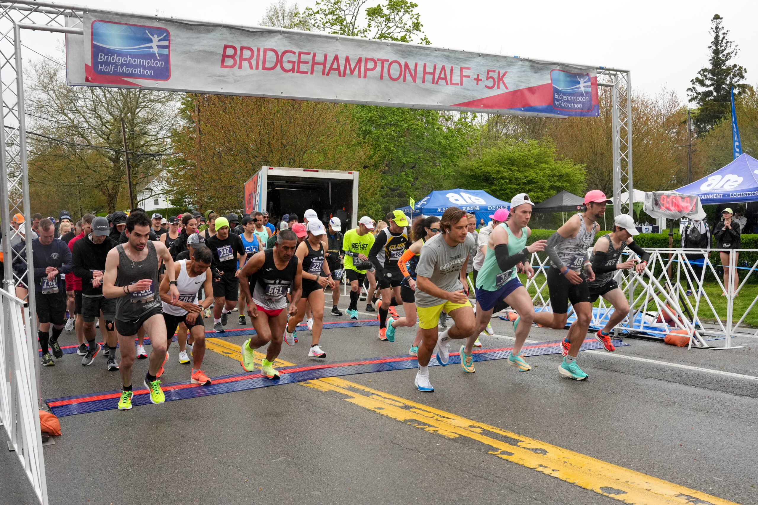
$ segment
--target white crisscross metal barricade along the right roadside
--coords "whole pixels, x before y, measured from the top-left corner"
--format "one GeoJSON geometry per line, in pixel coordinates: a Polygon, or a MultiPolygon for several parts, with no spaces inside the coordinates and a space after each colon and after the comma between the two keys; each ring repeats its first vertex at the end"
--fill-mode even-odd
{"type": "MultiPolygon", "coordinates": [[[[721,267],[720,262],[714,264],[710,260],[710,253],[716,250],[646,248],[645,251],[650,253],[650,259],[643,273],[619,270],[615,274],[614,278],[619,282],[619,288],[627,295],[630,305],[628,316],[615,326],[615,335],[636,332],[664,338],[669,333],[678,332],[690,337],[690,348],[711,348],[707,344],[709,338],[723,338],[724,346],[715,349],[741,347],[731,345],[732,337],[758,336],[758,331],[738,332],[747,314],[758,302],[758,296],[750,301],[750,306],[744,313],[735,313],[735,298],[741,293],[744,296],[747,292],[744,287],[756,271],[758,261],[753,263],[752,267],[737,265],[738,272],[742,272],[744,277],[738,285],[734,285],[734,277],[729,276],[728,284],[724,285],[722,275],[717,270],[721,267]],[[706,274],[713,275],[716,285],[725,293],[725,308],[717,309],[708,295],[704,282],[706,274]],[[688,290],[692,291],[691,297],[687,296],[688,290]],[[739,320],[735,324],[736,317],[739,317],[739,320]],[[710,327],[706,327],[706,323],[710,327]]],[[[735,252],[758,251],[735,249],[729,256],[730,265],[735,263],[732,260],[735,252]]],[[[631,251],[628,253],[635,257],[631,251]]],[[[534,288],[532,301],[537,310],[550,310],[550,293],[547,289],[547,269],[550,267],[550,260],[547,257],[540,259],[540,255],[534,253],[531,264],[535,275],[528,280],[526,288],[534,288]]],[[[593,310],[591,324],[604,326],[609,319],[610,309],[612,307],[601,297],[599,307],[593,310]]],[[[572,310],[569,309],[569,316],[571,314],[572,310]]]]}

